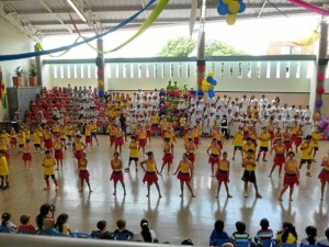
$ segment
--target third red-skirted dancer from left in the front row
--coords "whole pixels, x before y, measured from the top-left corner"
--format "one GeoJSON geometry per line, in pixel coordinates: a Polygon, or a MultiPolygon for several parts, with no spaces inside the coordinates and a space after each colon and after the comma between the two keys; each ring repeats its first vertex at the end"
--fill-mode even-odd
{"type": "Polygon", "coordinates": [[[143,182],[147,182],[147,195],[146,197],[149,198],[150,187],[152,183],[155,183],[157,187],[157,190],[159,192],[159,198],[162,198],[160,188],[159,188],[159,183],[158,183],[158,176],[157,176],[157,173],[159,173],[159,171],[158,171],[157,164],[154,158],[152,151],[147,153],[147,159],[140,162],[140,167],[143,168],[143,170],[145,172],[143,182]],[[146,165],[146,167],[144,167],[144,165],[146,165]]]}

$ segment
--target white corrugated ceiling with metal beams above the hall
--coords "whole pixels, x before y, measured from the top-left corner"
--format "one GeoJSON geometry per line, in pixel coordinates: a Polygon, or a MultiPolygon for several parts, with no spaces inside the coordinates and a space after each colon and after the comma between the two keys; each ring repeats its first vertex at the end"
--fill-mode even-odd
{"type": "MultiPolygon", "coordinates": [[[[87,23],[79,19],[65,0],[0,0],[0,16],[27,36],[37,40],[45,35],[77,33],[68,13],[71,13],[73,22],[81,33],[101,33],[133,15],[148,2],[148,0],[73,1],[82,10],[88,20],[87,23]]],[[[197,2],[200,10],[202,0],[197,0],[197,2]]],[[[329,4],[329,0],[309,0],[308,2],[319,7],[329,4]]],[[[309,13],[309,11],[285,0],[245,0],[245,3],[247,10],[239,15],[239,20],[309,13]]],[[[125,29],[139,26],[155,5],[156,3],[125,29]]],[[[189,23],[191,5],[192,0],[170,0],[154,25],[189,23]]],[[[206,21],[225,20],[217,13],[218,0],[207,0],[206,5],[206,21]]],[[[200,12],[197,11],[196,21],[200,18],[200,12]]]]}

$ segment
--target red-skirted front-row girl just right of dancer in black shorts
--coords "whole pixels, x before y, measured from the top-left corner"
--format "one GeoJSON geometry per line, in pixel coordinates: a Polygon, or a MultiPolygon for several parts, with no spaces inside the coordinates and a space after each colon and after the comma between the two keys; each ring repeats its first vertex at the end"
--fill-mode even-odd
{"type": "Polygon", "coordinates": [[[284,179],[283,179],[283,189],[279,195],[279,201],[282,201],[282,195],[284,192],[290,188],[290,201],[293,201],[293,192],[294,192],[294,186],[298,186],[298,168],[297,168],[297,160],[294,159],[295,153],[290,151],[288,153],[288,159],[285,161],[284,166],[284,179]]]}

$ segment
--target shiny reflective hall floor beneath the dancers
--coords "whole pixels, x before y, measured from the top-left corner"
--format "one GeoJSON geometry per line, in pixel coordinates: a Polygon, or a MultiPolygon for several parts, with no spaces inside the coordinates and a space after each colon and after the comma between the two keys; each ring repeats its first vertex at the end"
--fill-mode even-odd
{"type": "MultiPolygon", "coordinates": [[[[184,238],[191,238],[196,245],[207,245],[214,222],[218,218],[225,221],[225,229],[231,234],[235,231],[235,223],[243,221],[247,231],[253,236],[259,229],[259,222],[262,217],[270,220],[271,228],[276,232],[281,228],[283,221],[292,221],[297,228],[299,238],[305,236],[304,229],[307,225],[316,225],[320,236],[328,224],[329,191],[326,192],[324,202],[320,201],[320,183],[317,175],[320,171],[321,157],[329,149],[329,143],[320,144],[320,151],[317,162],[311,171],[314,177],[305,176],[304,167],[300,176],[300,184],[296,188],[294,201],[290,202],[287,193],[284,201],[277,201],[277,194],[282,188],[283,179],[277,178],[275,170],[272,178],[268,175],[272,167],[272,156],[268,162],[260,162],[257,168],[257,179],[262,193],[262,199],[256,199],[252,192],[248,199],[243,198],[243,182],[241,181],[242,168],[239,154],[236,160],[231,161],[231,181],[229,183],[232,199],[227,199],[224,188],[219,199],[215,199],[217,181],[211,178],[211,168],[207,164],[206,148],[209,138],[202,139],[202,145],[196,153],[195,177],[193,188],[196,198],[192,199],[188,190],[184,198],[180,198],[179,181],[174,176],[163,172],[159,177],[159,184],[162,199],[158,198],[156,188],[151,188],[151,197],[147,199],[146,184],[141,182],[143,172],[136,173],[132,169],[124,175],[127,187],[127,195],[123,197],[123,190],[118,184],[117,195],[112,195],[113,183],[109,181],[111,169],[110,159],[113,148],[109,149],[109,136],[100,136],[100,146],[88,148],[89,171],[91,175],[91,187],[93,192],[89,193],[84,188],[79,193],[79,179],[76,170],[76,160],[71,150],[65,154],[65,167],[58,172],[59,191],[56,193],[52,184],[50,191],[44,191],[43,168],[41,166],[44,155],[33,155],[33,168],[25,170],[21,154],[11,151],[10,182],[11,188],[0,191],[0,213],[8,211],[13,215],[13,222],[19,224],[19,217],[29,213],[34,217],[38,213],[42,203],[48,202],[57,205],[57,214],[66,212],[69,214],[69,225],[73,231],[90,232],[95,228],[99,220],[107,221],[107,228],[115,229],[115,222],[118,218],[127,221],[127,228],[132,232],[139,231],[139,221],[148,218],[150,227],[156,231],[160,242],[179,244],[184,238]]],[[[183,153],[183,139],[178,138],[175,145],[174,169],[183,153]]],[[[231,141],[225,142],[224,149],[228,151],[229,159],[232,154],[231,141]]],[[[154,150],[158,167],[162,158],[162,141],[159,137],[152,138],[147,150],[154,150]]],[[[127,164],[127,144],[123,147],[122,158],[127,164]]],[[[171,168],[173,170],[173,168],[171,168]]],[[[329,189],[327,187],[327,189],[329,189]]]]}

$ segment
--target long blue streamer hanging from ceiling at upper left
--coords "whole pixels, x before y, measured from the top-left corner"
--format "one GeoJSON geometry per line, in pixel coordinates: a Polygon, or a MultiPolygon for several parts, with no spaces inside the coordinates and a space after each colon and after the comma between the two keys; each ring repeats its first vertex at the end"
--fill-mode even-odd
{"type": "Polygon", "coordinates": [[[61,47],[54,48],[54,49],[38,50],[38,52],[34,52],[34,53],[21,53],[21,54],[12,54],[12,55],[2,55],[2,56],[0,56],[0,61],[2,61],[2,60],[18,60],[18,59],[23,59],[23,58],[29,58],[29,57],[48,55],[48,54],[52,54],[52,53],[58,53],[58,52],[63,52],[63,50],[66,50],[66,49],[71,49],[73,47],[77,47],[77,46],[83,45],[86,43],[92,42],[97,38],[100,38],[102,36],[107,35],[109,33],[113,33],[113,32],[117,31],[118,29],[125,26],[129,22],[134,21],[140,13],[146,11],[155,2],[156,2],[156,0],[150,0],[141,10],[139,10],[137,13],[133,14],[131,18],[124,20],[123,22],[121,22],[116,26],[113,26],[112,29],[107,30],[106,32],[104,32],[102,34],[99,34],[99,35],[95,35],[93,37],[89,37],[89,38],[87,38],[82,42],[78,42],[78,43],[72,44],[72,45],[61,46],[61,47]]]}

